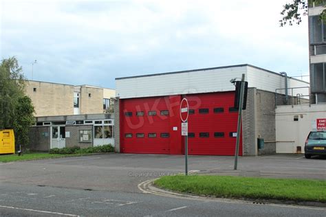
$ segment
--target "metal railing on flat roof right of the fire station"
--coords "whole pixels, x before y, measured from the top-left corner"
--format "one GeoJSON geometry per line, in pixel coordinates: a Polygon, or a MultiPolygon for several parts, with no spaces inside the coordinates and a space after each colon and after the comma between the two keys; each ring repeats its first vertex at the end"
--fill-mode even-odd
{"type": "Polygon", "coordinates": [[[296,104],[309,104],[311,105],[310,101],[310,87],[290,87],[290,88],[279,88],[275,89],[275,109],[277,106],[284,106],[284,105],[291,105],[292,107],[296,104]],[[301,91],[303,93],[298,93],[298,89],[307,89],[308,95],[303,95],[305,91],[301,91]],[[287,90],[287,95],[285,92],[287,90]],[[290,94],[291,92],[291,94],[290,94]],[[295,95],[294,95],[295,94],[295,95]],[[279,100],[282,99],[282,100],[279,100]]]}

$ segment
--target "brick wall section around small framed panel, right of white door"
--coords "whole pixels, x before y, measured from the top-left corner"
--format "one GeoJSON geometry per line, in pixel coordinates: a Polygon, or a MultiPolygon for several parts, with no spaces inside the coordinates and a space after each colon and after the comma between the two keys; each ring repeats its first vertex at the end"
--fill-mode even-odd
{"type": "Polygon", "coordinates": [[[67,148],[79,146],[80,148],[87,148],[93,146],[93,126],[80,125],[80,126],[66,126],[65,132],[70,132],[70,137],[65,138],[65,146],[67,148]],[[91,130],[91,142],[79,142],[79,130],[91,130]]]}

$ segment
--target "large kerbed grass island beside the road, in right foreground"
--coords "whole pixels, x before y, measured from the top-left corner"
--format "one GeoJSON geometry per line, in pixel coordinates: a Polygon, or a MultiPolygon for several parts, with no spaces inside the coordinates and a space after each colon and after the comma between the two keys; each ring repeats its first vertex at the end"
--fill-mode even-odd
{"type": "Polygon", "coordinates": [[[154,184],[175,192],[219,198],[326,203],[326,181],[239,176],[163,176],[154,184]]]}

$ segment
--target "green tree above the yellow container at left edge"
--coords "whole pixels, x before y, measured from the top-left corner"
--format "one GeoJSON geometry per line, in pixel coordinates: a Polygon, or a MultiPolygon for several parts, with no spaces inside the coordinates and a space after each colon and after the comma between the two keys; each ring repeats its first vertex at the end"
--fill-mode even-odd
{"type": "Polygon", "coordinates": [[[23,70],[17,58],[1,60],[0,129],[13,128],[17,144],[28,145],[28,130],[34,121],[32,101],[25,95],[23,70]]]}

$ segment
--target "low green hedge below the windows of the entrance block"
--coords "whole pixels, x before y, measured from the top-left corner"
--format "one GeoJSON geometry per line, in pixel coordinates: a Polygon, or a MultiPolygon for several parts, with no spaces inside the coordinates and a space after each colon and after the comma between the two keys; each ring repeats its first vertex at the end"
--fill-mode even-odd
{"type": "Polygon", "coordinates": [[[96,146],[96,147],[88,147],[88,148],[80,148],[79,146],[74,146],[72,148],[52,148],[50,150],[50,154],[61,154],[61,155],[71,155],[71,154],[89,154],[89,153],[105,153],[105,152],[113,152],[114,148],[111,144],[96,146]]]}

